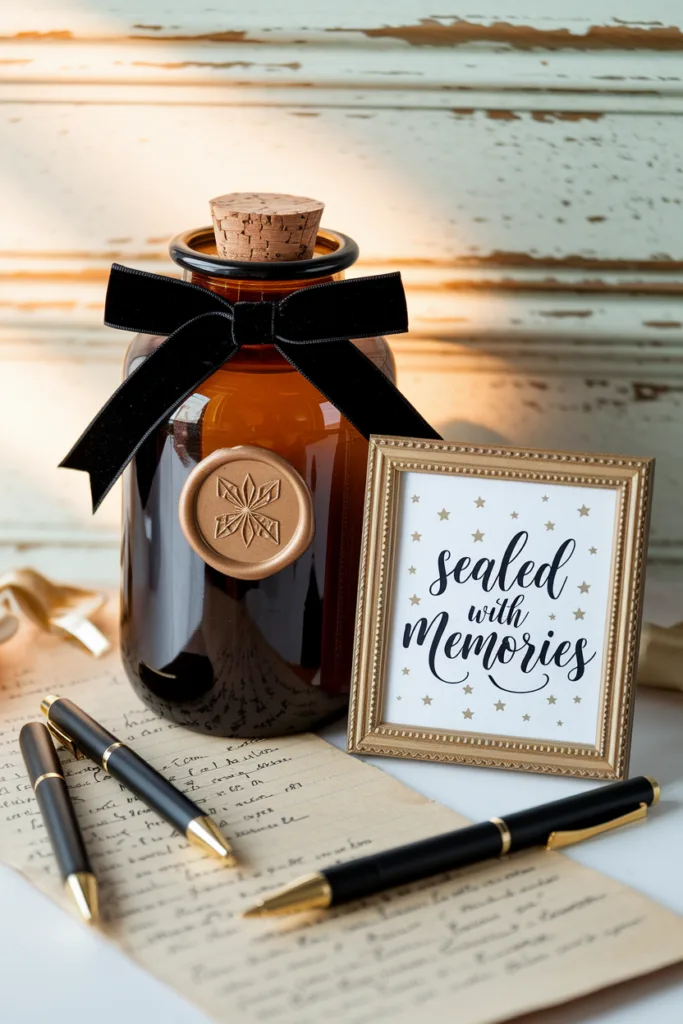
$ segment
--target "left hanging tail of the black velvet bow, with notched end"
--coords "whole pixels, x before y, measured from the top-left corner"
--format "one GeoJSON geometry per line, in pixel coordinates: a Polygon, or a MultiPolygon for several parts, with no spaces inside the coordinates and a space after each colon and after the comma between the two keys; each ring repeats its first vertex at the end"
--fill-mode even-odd
{"type": "Polygon", "coordinates": [[[130,374],[59,463],[90,476],[92,511],[150,434],[238,350],[225,312],[183,324],[130,374]]]}

